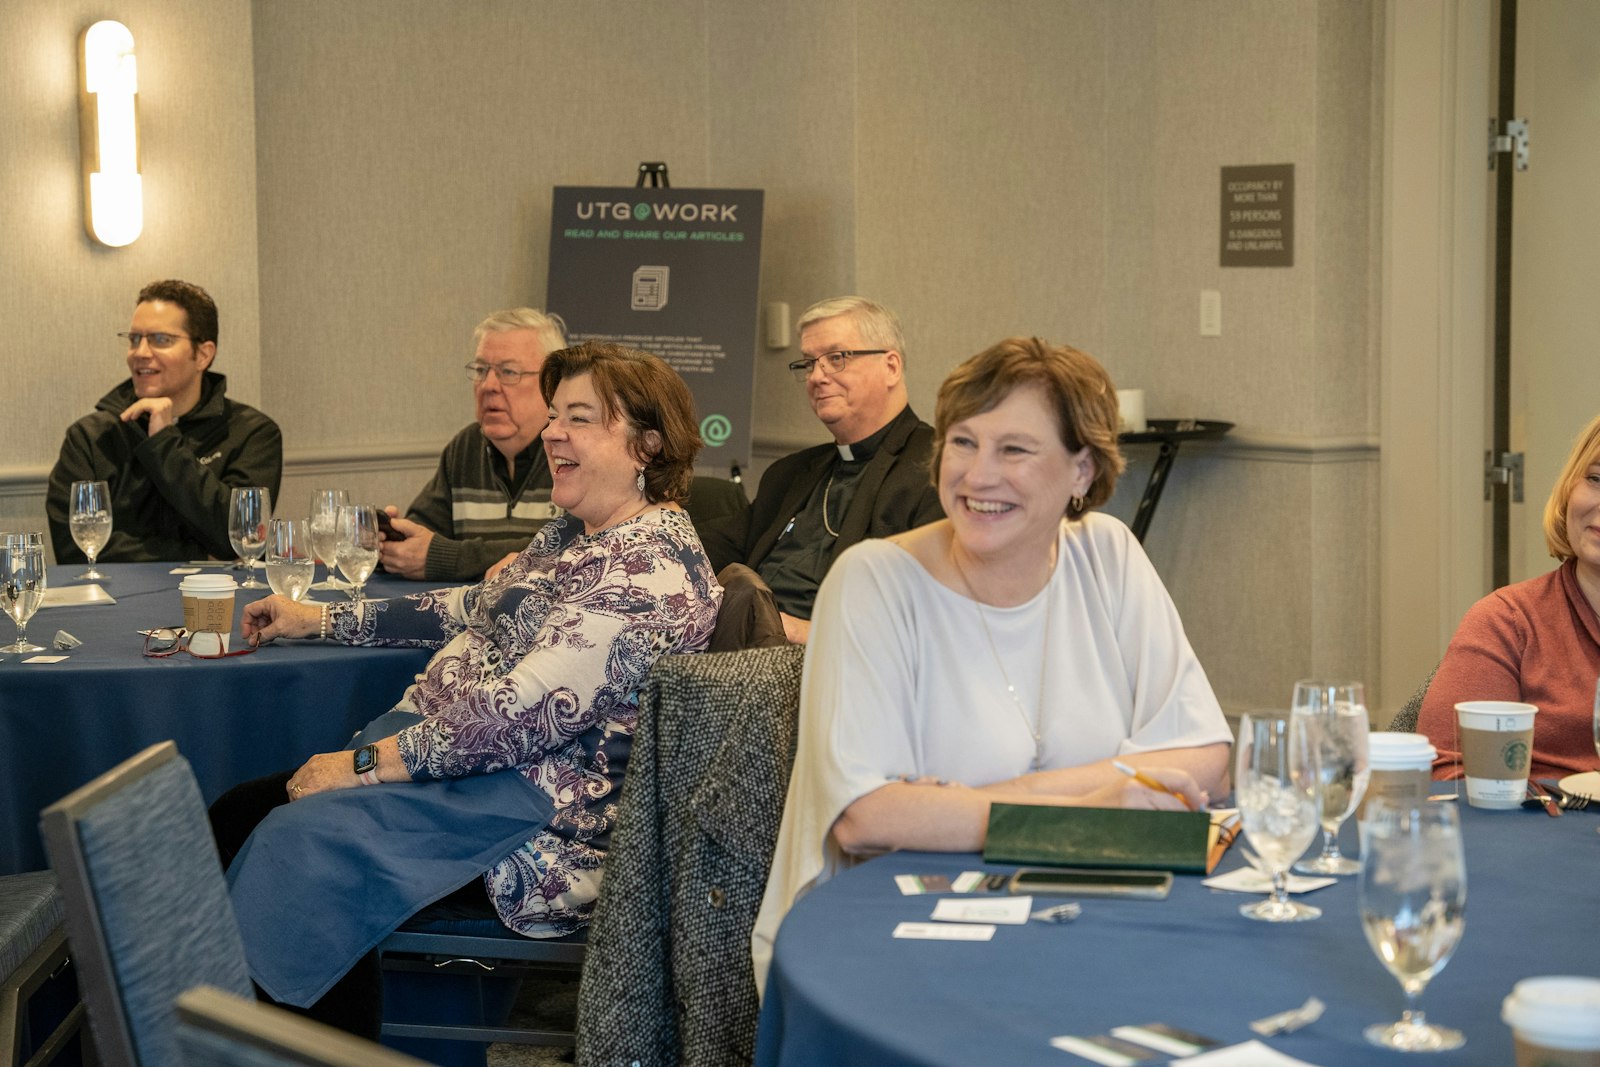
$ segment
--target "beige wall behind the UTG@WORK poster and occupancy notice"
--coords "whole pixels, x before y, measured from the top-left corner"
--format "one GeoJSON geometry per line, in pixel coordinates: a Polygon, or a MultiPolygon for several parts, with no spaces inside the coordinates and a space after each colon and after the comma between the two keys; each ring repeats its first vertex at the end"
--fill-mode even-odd
{"type": "MultiPolygon", "coordinates": [[[[253,115],[230,117],[254,133],[248,267],[286,502],[338,478],[403,504],[470,418],[472,325],[542,302],[550,186],[627,184],[664,158],[680,187],[766,190],[763,302],[894,306],[925,416],[963,357],[1037,333],[1099,355],[1154,416],[1237,422],[1229,443],[1179,456],[1147,545],[1219,694],[1282,704],[1312,670],[1374,675],[1371,3],[226,11],[253,42],[253,115]],[[1221,270],[1218,170],[1282,162],[1296,165],[1296,266],[1221,270]],[[1222,291],[1222,338],[1198,336],[1202,288],[1222,291]]],[[[46,291],[46,306],[86,304],[75,283],[46,291]]],[[[757,354],[757,469],[821,440],[789,358],[757,354]]],[[[35,434],[58,437],[85,403],[35,434]]],[[[1131,515],[1152,459],[1133,454],[1114,510],[1131,515]]]]}

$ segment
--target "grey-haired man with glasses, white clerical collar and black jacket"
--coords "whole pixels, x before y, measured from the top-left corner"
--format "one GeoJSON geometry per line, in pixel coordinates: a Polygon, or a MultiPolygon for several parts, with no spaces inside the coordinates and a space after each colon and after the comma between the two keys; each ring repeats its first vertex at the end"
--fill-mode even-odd
{"type": "Polygon", "coordinates": [[[746,563],[773,587],[790,641],[805,643],[811,601],[834,558],[944,515],[928,475],[933,427],[906,394],[894,312],[859,296],[813,304],[790,363],[834,437],[762,475],[749,515],[701,530],[712,566],[746,563]]]}

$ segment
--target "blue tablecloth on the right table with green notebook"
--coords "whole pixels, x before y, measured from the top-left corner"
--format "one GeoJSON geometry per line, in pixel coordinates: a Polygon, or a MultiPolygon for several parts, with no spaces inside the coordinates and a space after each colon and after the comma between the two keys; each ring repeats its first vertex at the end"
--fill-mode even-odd
{"type": "MultiPolygon", "coordinates": [[[[1512,984],[1600,976],[1600,816],[1461,808],[1467,928],[1422,1009],[1467,1045],[1424,1059],[1510,1064],[1499,1003],[1512,984]]],[[[1342,841],[1354,853],[1349,827],[1342,841]]],[[[1221,870],[1242,862],[1235,849],[1221,870]]],[[[1309,923],[1250,921],[1238,915],[1250,897],[1179,877],[1166,901],[1083,901],[1075,923],[1000,926],[990,942],[891,937],[941,899],[901,896],[896,873],[979,867],[976,856],[893,853],[802,897],[778,934],[755,1062],[1069,1067],[1088,1061],[1051,1037],[1168,1022],[1232,1045],[1254,1037],[1251,1019],[1307,997],[1326,1014],[1269,1045],[1322,1067],[1419,1062],[1362,1038],[1400,1017],[1403,995],[1362,934],[1354,877],[1304,897],[1323,910],[1309,923]]]]}

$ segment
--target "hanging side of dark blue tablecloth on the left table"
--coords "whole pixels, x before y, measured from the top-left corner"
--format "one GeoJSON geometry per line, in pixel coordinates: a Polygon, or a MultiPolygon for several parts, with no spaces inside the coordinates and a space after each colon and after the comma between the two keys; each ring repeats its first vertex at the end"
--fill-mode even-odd
{"type": "MultiPolygon", "coordinates": [[[[115,605],[43,608],[27,627],[35,645],[67,630],[83,640],[82,648],[59,664],[0,656],[0,873],[45,867],[40,808],[147,745],[176,741],[211,801],[242,781],[342,749],[355,729],[394,705],[427,662],[426,649],[318,641],[277,641],[216,661],[182,653],[146,659],[134,630],[182,624],[182,579],[173,566],[102,563],[110,577],[101,585],[115,605]]],[[[70,577],[82,571],[82,563],[53,566],[50,584],[80,584],[70,577]]],[[[366,589],[386,597],[427,585],[378,577],[366,589]]],[[[240,608],[267,592],[240,590],[235,641],[240,608]]],[[[6,619],[0,627],[10,643],[14,629],[6,619]]]]}

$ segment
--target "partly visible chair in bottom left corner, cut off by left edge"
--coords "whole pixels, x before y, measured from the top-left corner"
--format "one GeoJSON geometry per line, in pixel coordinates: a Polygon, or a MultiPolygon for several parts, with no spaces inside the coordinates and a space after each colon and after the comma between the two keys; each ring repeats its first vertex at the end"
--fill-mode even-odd
{"type": "MultiPolygon", "coordinates": [[[[48,1016],[34,1011],[43,1008],[35,1005],[35,995],[67,971],[62,920],[53,873],[30,870],[0,878],[0,1056],[6,1064],[38,1067],[53,1062],[82,1029],[83,1005],[70,990],[64,990],[66,1003],[50,1016],[50,1022],[40,1025],[43,1019],[34,1019],[35,1014],[48,1016]],[[48,1032],[34,1033],[30,1022],[48,1032]]],[[[70,974],[59,979],[59,984],[70,982],[70,974]]],[[[38,1000],[48,998],[46,993],[38,1000]]]]}

